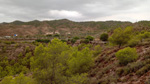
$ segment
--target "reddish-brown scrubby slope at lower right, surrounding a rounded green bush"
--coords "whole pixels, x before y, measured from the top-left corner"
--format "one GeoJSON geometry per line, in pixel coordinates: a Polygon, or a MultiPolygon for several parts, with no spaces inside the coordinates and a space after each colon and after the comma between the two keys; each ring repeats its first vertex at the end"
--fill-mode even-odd
{"type": "Polygon", "coordinates": [[[150,43],[135,48],[139,58],[126,66],[118,64],[115,56],[118,47],[104,49],[90,71],[90,84],[149,84],[150,43]]]}

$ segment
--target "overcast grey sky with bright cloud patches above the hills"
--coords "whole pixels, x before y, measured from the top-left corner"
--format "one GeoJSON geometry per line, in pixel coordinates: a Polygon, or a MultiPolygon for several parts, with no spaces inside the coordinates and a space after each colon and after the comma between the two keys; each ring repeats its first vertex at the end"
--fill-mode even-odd
{"type": "Polygon", "coordinates": [[[150,20],[150,0],[0,0],[0,22],[150,20]]]}

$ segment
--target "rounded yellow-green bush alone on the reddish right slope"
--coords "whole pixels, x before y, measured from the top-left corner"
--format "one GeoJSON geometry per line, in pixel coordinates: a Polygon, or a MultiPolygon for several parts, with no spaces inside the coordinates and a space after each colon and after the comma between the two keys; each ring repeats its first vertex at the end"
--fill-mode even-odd
{"type": "Polygon", "coordinates": [[[119,50],[116,53],[116,57],[119,60],[120,64],[126,65],[129,62],[132,62],[138,58],[137,52],[135,48],[124,48],[119,50]]]}

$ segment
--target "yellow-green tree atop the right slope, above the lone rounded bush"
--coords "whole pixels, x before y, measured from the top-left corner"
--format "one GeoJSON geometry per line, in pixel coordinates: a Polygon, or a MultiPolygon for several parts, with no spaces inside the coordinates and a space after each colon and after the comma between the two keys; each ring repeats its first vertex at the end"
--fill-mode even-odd
{"type": "Polygon", "coordinates": [[[125,29],[117,28],[114,30],[112,36],[109,38],[109,42],[115,45],[119,45],[120,48],[122,45],[127,44],[131,37],[131,27],[127,27],[125,29]]]}

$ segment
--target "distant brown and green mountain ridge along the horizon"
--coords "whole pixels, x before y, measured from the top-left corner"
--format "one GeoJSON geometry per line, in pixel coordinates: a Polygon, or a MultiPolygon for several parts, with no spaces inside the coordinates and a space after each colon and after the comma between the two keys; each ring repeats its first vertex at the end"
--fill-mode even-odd
{"type": "Polygon", "coordinates": [[[74,22],[68,19],[51,20],[51,21],[29,21],[22,22],[16,20],[11,23],[0,24],[0,36],[37,36],[45,35],[48,32],[59,32],[65,36],[67,32],[71,36],[86,36],[93,35],[98,37],[100,33],[113,30],[121,27],[133,26],[136,30],[149,30],[150,21],[140,21],[136,23],[121,22],[121,21],[87,21],[87,22],[74,22]]]}

